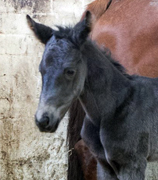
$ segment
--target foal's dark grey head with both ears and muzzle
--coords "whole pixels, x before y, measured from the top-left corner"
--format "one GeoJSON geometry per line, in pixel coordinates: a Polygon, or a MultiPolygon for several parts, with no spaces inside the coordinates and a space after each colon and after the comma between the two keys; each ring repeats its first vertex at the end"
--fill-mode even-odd
{"type": "Polygon", "coordinates": [[[90,16],[87,12],[85,19],[74,28],[58,27],[57,31],[27,16],[30,28],[45,44],[39,66],[42,92],[36,112],[36,124],[41,131],[54,132],[83,90],[86,66],[80,49],[90,31],[90,16]]]}

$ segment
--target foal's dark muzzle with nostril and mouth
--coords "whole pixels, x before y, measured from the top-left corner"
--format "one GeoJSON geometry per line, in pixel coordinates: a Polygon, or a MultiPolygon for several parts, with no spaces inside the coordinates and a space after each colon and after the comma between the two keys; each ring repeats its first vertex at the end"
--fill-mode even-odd
{"type": "Polygon", "coordinates": [[[40,118],[37,118],[36,114],[35,122],[41,132],[53,133],[59,125],[59,120],[54,118],[53,115],[48,115],[48,113],[44,113],[40,118]]]}

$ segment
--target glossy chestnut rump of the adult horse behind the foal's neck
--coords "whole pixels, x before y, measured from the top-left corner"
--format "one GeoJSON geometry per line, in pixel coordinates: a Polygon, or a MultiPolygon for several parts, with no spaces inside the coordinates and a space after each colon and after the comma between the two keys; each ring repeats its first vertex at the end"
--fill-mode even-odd
{"type": "MultiPolygon", "coordinates": [[[[96,1],[100,2],[100,1],[96,1]]],[[[130,74],[158,76],[158,2],[113,0],[91,38],[108,47],[130,74]]]]}

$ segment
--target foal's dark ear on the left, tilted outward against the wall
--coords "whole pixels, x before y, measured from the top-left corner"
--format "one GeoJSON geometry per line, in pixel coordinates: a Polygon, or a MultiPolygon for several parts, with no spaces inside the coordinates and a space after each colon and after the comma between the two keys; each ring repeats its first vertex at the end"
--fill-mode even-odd
{"type": "Polygon", "coordinates": [[[36,37],[44,44],[53,35],[53,29],[43,24],[36,23],[29,15],[26,16],[30,29],[35,33],[36,37]]]}

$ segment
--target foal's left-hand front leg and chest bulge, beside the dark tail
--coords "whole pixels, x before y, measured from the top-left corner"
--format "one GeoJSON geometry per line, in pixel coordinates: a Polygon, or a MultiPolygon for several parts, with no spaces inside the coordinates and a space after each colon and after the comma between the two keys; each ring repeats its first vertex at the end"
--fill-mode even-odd
{"type": "Polygon", "coordinates": [[[106,161],[104,149],[100,142],[99,130],[86,116],[81,136],[97,159],[97,180],[118,180],[114,170],[106,161]]]}

